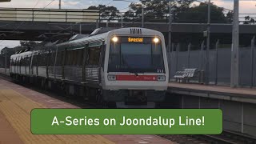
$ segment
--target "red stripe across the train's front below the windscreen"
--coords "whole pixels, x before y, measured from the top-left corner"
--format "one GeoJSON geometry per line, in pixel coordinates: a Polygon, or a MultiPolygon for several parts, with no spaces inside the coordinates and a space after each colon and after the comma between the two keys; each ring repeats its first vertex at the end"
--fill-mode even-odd
{"type": "Polygon", "coordinates": [[[156,75],[116,75],[117,81],[158,81],[156,75]]]}

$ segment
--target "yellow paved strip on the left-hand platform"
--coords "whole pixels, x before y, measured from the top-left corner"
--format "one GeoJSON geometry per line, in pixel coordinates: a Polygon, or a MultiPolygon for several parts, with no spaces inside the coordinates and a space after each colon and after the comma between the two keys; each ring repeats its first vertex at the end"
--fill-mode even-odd
{"type": "Polygon", "coordinates": [[[34,135],[30,132],[30,111],[46,108],[14,90],[0,90],[0,110],[25,143],[114,143],[101,135],[34,135]]]}

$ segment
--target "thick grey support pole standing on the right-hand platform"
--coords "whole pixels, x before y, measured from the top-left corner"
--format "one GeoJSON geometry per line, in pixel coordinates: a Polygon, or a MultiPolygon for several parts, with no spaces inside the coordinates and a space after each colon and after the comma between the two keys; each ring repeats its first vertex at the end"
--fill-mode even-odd
{"type": "Polygon", "coordinates": [[[230,86],[239,85],[239,0],[234,0],[230,86]]]}

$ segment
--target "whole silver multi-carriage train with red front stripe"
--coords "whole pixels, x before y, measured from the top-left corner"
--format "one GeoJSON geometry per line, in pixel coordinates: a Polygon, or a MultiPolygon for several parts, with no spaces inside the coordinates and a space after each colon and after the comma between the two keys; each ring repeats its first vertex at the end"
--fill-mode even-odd
{"type": "Polygon", "coordinates": [[[169,69],[163,34],[139,27],[97,31],[11,55],[10,77],[114,106],[164,101],[169,69]]]}

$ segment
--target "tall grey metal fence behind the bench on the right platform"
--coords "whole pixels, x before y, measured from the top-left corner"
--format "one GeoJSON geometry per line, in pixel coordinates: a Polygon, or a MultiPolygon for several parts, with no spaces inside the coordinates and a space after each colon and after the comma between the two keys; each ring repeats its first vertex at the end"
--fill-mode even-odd
{"type": "MultiPolygon", "coordinates": [[[[202,43],[198,50],[180,51],[180,44],[173,44],[168,52],[170,65],[170,81],[174,81],[174,74],[184,68],[197,68],[206,70],[206,46],[202,43]]],[[[214,50],[209,51],[209,81],[214,85],[230,85],[231,70],[231,46],[222,47],[216,42],[214,50]]],[[[239,48],[239,85],[256,86],[256,50],[254,50],[254,38],[251,46],[239,48]]]]}

